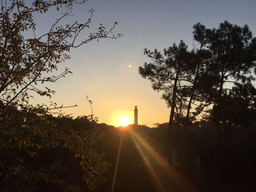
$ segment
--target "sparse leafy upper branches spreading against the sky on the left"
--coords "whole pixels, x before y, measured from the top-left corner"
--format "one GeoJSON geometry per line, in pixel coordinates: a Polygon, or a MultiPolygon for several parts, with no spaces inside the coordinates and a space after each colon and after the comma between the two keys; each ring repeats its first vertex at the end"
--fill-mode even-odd
{"type": "MultiPolygon", "coordinates": [[[[44,90],[36,88],[37,83],[56,82],[59,78],[71,73],[65,69],[57,76],[45,76],[57,70],[57,64],[70,59],[67,52],[70,48],[79,47],[92,40],[108,38],[117,22],[109,31],[100,24],[99,31],[90,33],[88,38],[82,42],[76,42],[81,31],[89,28],[90,18],[79,24],[67,24],[59,26],[60,20],[68,17],[72,11],[74,0],[60,1],[35,1],[30,6],[26,6],[24,1],[11,1],[10,7],[3,7],[0,13],[0,63],[1,63],[1,100],[4,107],[10,103],[26,105],[28,104],[28,91],[35,91],[39,95],[51,97],[54,91],[45,87],[44,90]],[[45,34],[36,34],[36,24],[33,21],[33,14],[38,12],[46,14],[51,7],[66,7],[66,12],[53,23],[52,28],[45,34]],[[5,11],[4,11],[5,10],[5,11]],[[18,12],[18,13],[15,13],[18,12]],[[32,33],[31,38],[25,39],[24,35],[32,33]],[[15,102],[16,101],[16,102],[15,102]]],[[[81,3],[84,3],[82,1],[81,3]]],[[[118,34],[116,37],[121,36],[118,34]]],[[[116,38],[114,35],[110,38],[116,38]]]]}

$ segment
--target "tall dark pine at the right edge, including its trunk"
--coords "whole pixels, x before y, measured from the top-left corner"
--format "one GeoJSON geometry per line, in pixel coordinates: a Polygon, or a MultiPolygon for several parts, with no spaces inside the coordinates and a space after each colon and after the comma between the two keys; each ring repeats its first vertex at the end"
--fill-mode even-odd
{"type": "MultiPolygon", "coordinates": [[[[202,31],[198,30],[198,32],[202,31]]],[[[228,21],[220,23],[218,29],[205,29],[205,34],[204,47],[211,52],[208,70],[218,77],[216,81],[218,84],[214,86],[216,91],[211,95],[214,98],[213,118],[217,133],[213,176],[216,181],[219,173],[222,138],[255,96],[255,88],[251,83],[254,77],[251,75],[256,61],[256,38],[252,37],[252,32],[247,25],[239,27],[228,21]],[[233,89],[226,88],[226,83],[232,83],[233,89]],[[227,94],[234,96],[235,92],[242,99],[240,100],[242,105],[237,105],[239,110],[228,120],[227,125],[221,120],[225,116],[223,110],[228,107],[225,105],[224,96],[227,94]],[[243,96],[243,92],[247,93],[243,96]]]]}

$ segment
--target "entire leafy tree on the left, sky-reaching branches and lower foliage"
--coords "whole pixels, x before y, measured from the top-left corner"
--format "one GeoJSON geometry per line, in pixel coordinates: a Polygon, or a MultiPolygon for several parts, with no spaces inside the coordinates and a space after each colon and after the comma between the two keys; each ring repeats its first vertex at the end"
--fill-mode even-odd
{"type": "MultiPolygon", "coordinates": [[[[104,154],[98,154],[92,145],[100,139],[97,134],[96,120],[89,116],[92,127],[86,131],[74,131],[69,124],[59,121],[63,114],[56,110],[56,103],[32,106],[29,104],[31,92],[51,98],[55,91],[45,87],[44,82],[56,82],[71,73],[66,68],[59,75],[52,74],[61,62],[70,59],[70,48],[76,48],[100,38],[112,38],[117,22],[110,30],[100,24],[98,31],[88,34],[82,42],[77,37],[84,29],[89,28],[90,17],[84,23],[60,25],[60,21],[70,16],[73,4],[84,4],[76,0],[36,0],[25,2],[11,0],[2,2],[0,12],[0,176],[7,186],[23,188],[28,191],[28,183],[58,184],[66,190],[75,191],[76,186],[58,179],[57,172],[63,169],[60,157],[40,167],[28,164],[43,148],[68,148],[74,156],[81,159],[84,171],[83,180],[90,189],[106,181],[102,173],[109,164],[102,160],[104,154]],[[44,34],[36,33],[35,14],[47,14],[49,10],[64,10],[44,34]],[[28,37],[29,36],[29,37],[28,37]],[[52,117],[58,116],[58,121],[52,117]],[[28,182],[29,181],[29,182],[28,182]],[[25,189],[24,186],[27,185],[25,189]]],[[[91,102],[91,101],[90,101],[91,102]]],[[[86,117],[87,118],[87,117],[86,117]]],[[[35,184],[36,185],[36,184],[35,184]]],[[[10,190],[16,190],[10,187],[10,190]]],[[[32,190],[32,187],[30,188],[32,190]]],[[[22,191],[21,190],[21,191],[22,191]]]]}

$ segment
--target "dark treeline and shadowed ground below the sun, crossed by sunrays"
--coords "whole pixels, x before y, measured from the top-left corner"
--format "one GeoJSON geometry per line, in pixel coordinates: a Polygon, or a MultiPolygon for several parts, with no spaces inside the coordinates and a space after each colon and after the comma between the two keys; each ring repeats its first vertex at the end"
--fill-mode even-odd
{"type": "MultiPolygon", "coordinates": [[[[235,127],[230,135],[225,138],[225,144],[221,151],[220,166],[220,191],[253,191],[255,189],[256,171],[256,149],[255,142],[255,114],[256,110],[247,108],[237,119],[235,127]]],[[[65,121],[74,131],[93,130],[93,124],[86,116],[72,118],[49,117],[55,122],[65,121]]],[[[104,160],[111,163],[107,173],[103,176],[107,178],[107,183],[99,185],[96,191],[163,191],[156,182],[157,178],[161,182],[165,191],[186,191],[182,188],[184,182],[188,182],[195,191],[215,191],[216,186],[212,183],[212,165],[214,157],[215,130],[211,122],[211,112],[200,121],[191,123],[187,132],[187,148],[183,148],[183,125],[175,122],[173,131],[172,161],[176,162],[172,172],[168,171],[168,123],[156,124],[156,127],[149,128],[145,125],[129,125],[128,127],[116,128],[107,124],[96,124],[99,133],[105,136],[93,145],[98,152],[105,151],[104,160]],[[120,140],[122,146],[120,150],[119,163],[116,172],[116,182],[113,186],[114,173],[120,140]],[[185,150],[185,151],[184,151],[185,150]],[[153,152],[152,152],[153,151],[153,152]],[[157,154],[166,162],[159,163],[157,154]],[[150,169],[149,169],[150,167],[150,169]],[[153,170],[153,171],[152,171],[153,170]],[[154,173],[154,174],[153,174],[154,173]],[[180,175],[180,181],[175,180],[180,175]]],[[[74,158],[75,154],[70,154],[67,148],[49,147],[38,149],[37,154],[27,159],[29,166],[40,167],[51,164],[56,156],[61,158],[60,164],[66,167],[60,172],[56,172],[59,180],[68,182],[70,185],[79,185],[81,190],[88,190],[83,178],[83,170],[80,165],[80,158],[74,158]]],[[[17,156],[28,157],[26,153],[17,150],[17,156]]],[[[1,152],[1,157],[4,154],[1,152]]],[[[17,177],[18,179],[19,177],[17,177]]],[[[4,180],[3,180],[4,181],[4,180]]],[[[1,184],[2,189],[15,191],[17,187],[31,191],[63,191],[64,187],[54,186],[40,178],[38,180],[18,179],[10,184],[1,184]]],[[[187,190],[188,191],[188,190],[187,190]]]]}

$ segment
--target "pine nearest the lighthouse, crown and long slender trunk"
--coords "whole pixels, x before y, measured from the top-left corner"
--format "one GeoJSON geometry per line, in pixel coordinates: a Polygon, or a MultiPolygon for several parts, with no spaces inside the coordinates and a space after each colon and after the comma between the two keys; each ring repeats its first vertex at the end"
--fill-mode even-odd
{"type": "Polygon", "coordinates": [[[154,90],[164,91],[162,99],[166,100],[167,105],[171,107],[168,128],[169,164],[172,164],[174,117],[179,124],[183,109],[186,108],[184,100],[187,95],[184,87],[190,87],[190,84],[193,83],[189,76],[195,65],[192,59],[193,53],[188,52],[187,47],[183,41],[180,41],[178,46],[173,44],[168,49],[164,49],[164,54],[156,49],[154,52],[145,49],[144,54],[151,58],[152,62],[145,63],[144,67],[139,67],[140,75],[144,78],[148,77],[154,90]]]}

